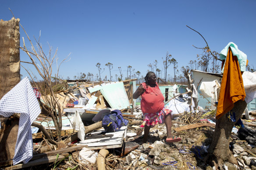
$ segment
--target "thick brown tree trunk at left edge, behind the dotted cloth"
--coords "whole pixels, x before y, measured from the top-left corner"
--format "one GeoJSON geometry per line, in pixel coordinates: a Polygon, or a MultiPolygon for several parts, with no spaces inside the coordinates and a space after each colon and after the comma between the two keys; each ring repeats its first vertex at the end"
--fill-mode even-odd
{"type": "MultiPolygon", "coordinates": [[[[20,82],[19,19],[0,21],[0,99],[20,82]]],[[[18,120],[0,116],[0,158],[12,159],[18,135],[18,120]]],[[[2,160],[0,159],[0,160],[2,160]]]]}

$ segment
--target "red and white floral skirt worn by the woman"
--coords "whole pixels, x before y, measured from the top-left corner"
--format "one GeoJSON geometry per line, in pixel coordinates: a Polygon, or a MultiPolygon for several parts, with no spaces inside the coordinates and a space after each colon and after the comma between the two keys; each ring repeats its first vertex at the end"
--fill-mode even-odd
{"type": "Polygon", "coordinates": [[[170,109],[163,108],[161,111],[158,111],[156,113],[144,113],[143,114],[143,122],[140,127],[144,127],[145,125],[150,126],[153,128],[157,124],[164,123],[164,116],[167,114],[171,114],[170,109]]]}

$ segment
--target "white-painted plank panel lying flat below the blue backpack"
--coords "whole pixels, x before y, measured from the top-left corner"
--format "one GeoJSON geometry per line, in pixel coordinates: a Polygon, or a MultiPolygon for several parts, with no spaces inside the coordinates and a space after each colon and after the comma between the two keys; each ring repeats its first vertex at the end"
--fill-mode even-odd
{"type": "Polygon", "coordinates": [[[121,147],[124,138],[126,138],[127,127],[123,126],[116,132],[105,133],[104,128],[92,132],[90,136],[85,137],[84,141],[78,142],[78,145],[87,145],[89,149],[109,149],[121,147]]]}

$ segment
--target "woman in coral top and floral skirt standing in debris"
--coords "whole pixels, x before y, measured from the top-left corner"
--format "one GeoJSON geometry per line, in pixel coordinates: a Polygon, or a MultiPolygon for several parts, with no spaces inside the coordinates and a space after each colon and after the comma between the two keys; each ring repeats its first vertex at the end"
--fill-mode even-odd
{"type": "Polygon", "coordinates": [[[149,71],[145,76],[145,82],[141,83],[133,94],[137,99],[141,96],[141,110],[143,113],[144,139],[146,143],[149,130],[156,124],[165,123],[167,129],[166,142],[178,142],[181,138],[171,135],[171,110],[164,108],[164,96],[156,83],[156,74],[149,71]]]}

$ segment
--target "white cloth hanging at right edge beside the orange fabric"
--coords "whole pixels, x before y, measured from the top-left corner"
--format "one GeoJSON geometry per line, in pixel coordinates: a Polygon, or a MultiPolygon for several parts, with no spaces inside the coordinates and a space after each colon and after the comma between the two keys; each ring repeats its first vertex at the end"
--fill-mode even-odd
{"type": "Polygon", "coordinates": [[[250,103],[256,98],[256,72],[245,71],[242,75],[245,88],[245,102],[250,103]]]}

